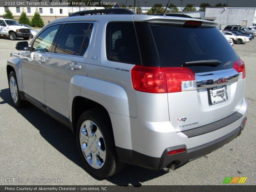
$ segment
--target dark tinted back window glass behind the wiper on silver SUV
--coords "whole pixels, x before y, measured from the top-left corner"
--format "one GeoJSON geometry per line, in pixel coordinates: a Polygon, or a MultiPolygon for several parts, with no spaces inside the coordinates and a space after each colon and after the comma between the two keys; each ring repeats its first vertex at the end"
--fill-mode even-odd
{"type": "Polygon", "coordinates": [[[239,60],[216,27],[185,28],[150,24],[161,67],[180,67],[185,62],[220,60],[217,67],[189,66],[195,73],[233,68],[239,60]]]}

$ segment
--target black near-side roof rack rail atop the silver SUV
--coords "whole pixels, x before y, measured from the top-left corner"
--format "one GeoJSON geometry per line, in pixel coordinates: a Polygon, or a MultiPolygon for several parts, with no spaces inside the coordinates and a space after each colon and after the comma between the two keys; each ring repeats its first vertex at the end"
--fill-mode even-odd
{"type": "Polygon", "coordinates": [[[129,9],[98,9],[98,10],[90,10],[90,11],[79,11],[75,12],[72,15],[69,15],[69,17],[73,16],[83,16],[83,15],[96,15],[100,14],[119,14],[119,15],[134,15],[135,13],[129,9]]]}

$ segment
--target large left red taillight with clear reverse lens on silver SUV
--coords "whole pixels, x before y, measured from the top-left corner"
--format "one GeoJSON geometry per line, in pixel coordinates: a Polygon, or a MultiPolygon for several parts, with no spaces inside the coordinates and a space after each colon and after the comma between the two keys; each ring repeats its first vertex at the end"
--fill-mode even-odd
{"type": "Polygon", "coordinates": [[[183,67],[158,68],[136,65],[132,68],[132,85],[135,90],[148,93],[195,90],[195,73],[183,67]]]}

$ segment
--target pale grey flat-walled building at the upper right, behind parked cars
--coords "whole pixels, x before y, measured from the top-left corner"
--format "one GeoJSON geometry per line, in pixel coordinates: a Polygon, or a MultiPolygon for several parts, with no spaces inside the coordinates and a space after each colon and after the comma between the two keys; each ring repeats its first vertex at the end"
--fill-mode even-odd
{"type": "Polygon", "coordinates": [[[206,7],[204,19],[218,23],[219,29],[227,25],[249,27],[256,23],[256,7],[206,7]]]}

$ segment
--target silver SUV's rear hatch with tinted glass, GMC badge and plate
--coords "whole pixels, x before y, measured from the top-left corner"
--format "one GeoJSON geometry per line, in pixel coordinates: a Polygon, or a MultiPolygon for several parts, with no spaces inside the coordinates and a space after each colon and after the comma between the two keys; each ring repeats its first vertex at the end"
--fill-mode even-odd
{"type": "Polygon", "coordinates": [[[243,74],[237,69],[243,62],[225,36],[212,23],[180,19],[135,21],[142,65],[194,72],[195,81],[185,83],[184,90],[167,93],[170,122],[177,132],[232,115],[244,97],[243,74]]]}

